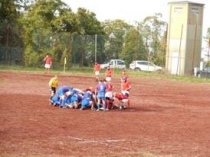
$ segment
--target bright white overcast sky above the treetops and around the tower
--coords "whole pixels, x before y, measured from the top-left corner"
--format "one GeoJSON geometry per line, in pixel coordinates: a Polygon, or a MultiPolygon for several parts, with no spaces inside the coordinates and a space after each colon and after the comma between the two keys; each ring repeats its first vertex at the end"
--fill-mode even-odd
{"type": "MultiPolygon", "coordinates": [[[[185,0],[62,0],[77,12],[79,7],[96,14],[99,21],[121,19],[127,23],[141,22],[145,17],[162,13],[163,21],[168,22],[168,3],[185,0]]],[[[210,27],[210,0],[189,0],[204,4],[203,36],[210,27]],[[209,16],[209,17],[208,17],[209,16]]],[[[202,44],[203,45],[203,44],[202,44]]]]}

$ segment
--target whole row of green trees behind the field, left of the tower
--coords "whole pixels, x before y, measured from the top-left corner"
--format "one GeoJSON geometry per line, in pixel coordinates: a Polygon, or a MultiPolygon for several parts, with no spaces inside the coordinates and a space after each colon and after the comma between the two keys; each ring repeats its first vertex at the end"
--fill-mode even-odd
{"type": "Polygon", "coordinates": [[[158,13],[134,25],[120,19],[100,22],[95,13],[85,8],[74,13],[61,0],[1,0],[0,63],[15,59],[24,66],[39,66],[49,53],[54,66],[61,66],[64,58],[68,67],[111,58],[164,66],[167,23],[161,17],[158,13]],[[18,48],[20,55],[11,48],[18,48]]]}

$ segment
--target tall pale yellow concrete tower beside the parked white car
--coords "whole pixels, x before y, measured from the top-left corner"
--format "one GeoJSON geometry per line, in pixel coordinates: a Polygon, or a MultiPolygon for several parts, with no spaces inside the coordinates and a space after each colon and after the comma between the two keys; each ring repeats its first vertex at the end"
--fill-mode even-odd
{"type": "Polygon", "coordinates": [[[193,74],[200,66],[204,4],[169,2],[166,69],[170,74],[193,74]]]}

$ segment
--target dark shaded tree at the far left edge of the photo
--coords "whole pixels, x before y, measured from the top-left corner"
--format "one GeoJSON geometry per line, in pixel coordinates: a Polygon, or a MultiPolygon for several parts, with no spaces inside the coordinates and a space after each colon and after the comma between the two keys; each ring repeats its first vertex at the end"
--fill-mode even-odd
{"type": "Polygon", "coordinates": [[[5,51],[0,52],[0,60],[7,64],[11,64],[18,57],[18,54],[15,54],[16,51],[11,49],[22,45],[19,31],[21,26],[17,20],[20,14],[16,10],[15,2],[14,0],[1,0],[0,2],[0,46],[5,48],[5,51]]]}

